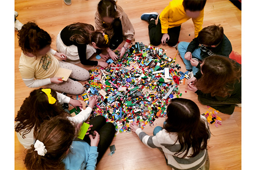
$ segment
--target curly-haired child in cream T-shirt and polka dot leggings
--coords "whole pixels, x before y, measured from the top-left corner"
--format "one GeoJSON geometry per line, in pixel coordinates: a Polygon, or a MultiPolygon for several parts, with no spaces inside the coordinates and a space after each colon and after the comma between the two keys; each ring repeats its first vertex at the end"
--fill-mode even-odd
{"type": "Polygon", "coordinates": [[[26,86],[34,88],[47,87],[68,94],[82,94],[84,87],[81,83],[70,78],[85,81],[90,73],[79,66],[63,62],[66,55],[51,49],[50,35],[39,28],[37,24],[28,22],[18,33],[19,46],[22,49],[19,69],[26,86]],[[63,81],[62,77],[54,77],[59,68],[72,70],[70,78],[63,81]]]}

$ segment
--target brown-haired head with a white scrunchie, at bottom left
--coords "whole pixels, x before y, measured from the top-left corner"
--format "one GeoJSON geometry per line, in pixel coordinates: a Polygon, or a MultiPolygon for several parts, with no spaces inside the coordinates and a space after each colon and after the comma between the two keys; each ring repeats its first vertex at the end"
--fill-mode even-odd
{"type": "Polygon", "coordinates": [[[27,169],[65,169],[61,160],[68,153],[75,137],[75,126],[67,117],[56,116],[45,121],[35,136],[45,146],[45,155],[35,150],[35,145],[27,150],[25,165],[27,169]]]}

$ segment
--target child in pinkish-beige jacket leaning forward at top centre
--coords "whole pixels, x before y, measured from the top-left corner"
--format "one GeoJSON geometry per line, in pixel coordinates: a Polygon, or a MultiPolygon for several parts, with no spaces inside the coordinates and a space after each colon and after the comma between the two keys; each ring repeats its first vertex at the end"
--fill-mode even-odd
{"type": "Polygon", "coordinates": [[[110,45],[107,51],[113,61],[116,61],[118,57],[111,50],[116,49],[122,43],[122,37],[124,37],[126,40],[119,53],[120,57],[122,57],[135,35],[134,27],[128,16],[112,0],[101,0],[99,2],[95,13],[95,28],[97,30],[104,30],[109,35],[110,45]]]}

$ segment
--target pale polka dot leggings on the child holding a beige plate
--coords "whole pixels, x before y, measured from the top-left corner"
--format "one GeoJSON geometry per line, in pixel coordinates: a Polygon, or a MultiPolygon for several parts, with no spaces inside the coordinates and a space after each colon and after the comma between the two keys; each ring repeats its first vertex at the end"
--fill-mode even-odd
{"type": "Polygon", "coordinates": [[[59,61],[59,63],[61,68],[72,70],[72,72],[67,81],[63,81],[63,83],[60,83],[60,84],[52,83],[52,84],[49,84],[48,87],[56,91],[60,91],[68,94],[73,94],[73,95],[82,94],[84,92],[83,85],[72,79],[76,79],[79,81],[88,80],[90,78],[90,73],[88,72],[88,70],[64,61],[59,61]]]}

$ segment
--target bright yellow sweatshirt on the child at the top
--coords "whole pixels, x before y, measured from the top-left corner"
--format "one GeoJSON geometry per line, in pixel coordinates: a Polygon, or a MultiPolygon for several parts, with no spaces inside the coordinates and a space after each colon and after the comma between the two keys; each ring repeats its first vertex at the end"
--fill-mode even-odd
{"type": "MultiPolygon", "coordinates": [[[[184,7],[182,5],[183,0],[173,0],[169,3],[159,16],[161,21],[162,33],[168,33],[169,28],[178,27],[182,23],[185,23],[190,18],[186,15],[184,7]]],[[[192,19],[195,26],[195,37],[198,36],[198,32],[202,30],[204,18],[204,10],[200,12],[199,17],[192,19]]]]}

